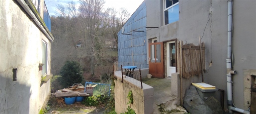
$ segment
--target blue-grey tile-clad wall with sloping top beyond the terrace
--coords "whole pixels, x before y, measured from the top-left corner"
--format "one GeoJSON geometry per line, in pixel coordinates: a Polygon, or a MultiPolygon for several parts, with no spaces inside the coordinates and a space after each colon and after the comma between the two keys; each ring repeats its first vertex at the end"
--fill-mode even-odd
{"type": "Polygon", "coordinates": [[[118,32],[118,67],[149,68],[146,43],[146,3],[138,7],[118,32]],[[129,35],[124,35],[129,34],[129,35]]]}

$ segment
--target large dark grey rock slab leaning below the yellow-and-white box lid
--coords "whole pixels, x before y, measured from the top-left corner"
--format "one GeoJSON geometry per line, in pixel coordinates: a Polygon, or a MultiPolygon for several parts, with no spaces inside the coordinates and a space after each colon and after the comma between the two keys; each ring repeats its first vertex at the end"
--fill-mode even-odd
{"type": "Polygon", "coordinates": [[[213,114],[212,110],[204,103],[194,86],[186,90],[183,107],[190,114],[213,114]]]}

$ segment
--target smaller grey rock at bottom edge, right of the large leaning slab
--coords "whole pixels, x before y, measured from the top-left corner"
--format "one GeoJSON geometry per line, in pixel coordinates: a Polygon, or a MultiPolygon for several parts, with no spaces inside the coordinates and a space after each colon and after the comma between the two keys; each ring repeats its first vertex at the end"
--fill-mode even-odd
{"type": "Polygon", "coordinates": [[[220,102],[215,99],[213,96],[208,97],[206,101],[204,101],[208,107],[212,110],[212,114],[222,114],[222,108],[220,102]]]}

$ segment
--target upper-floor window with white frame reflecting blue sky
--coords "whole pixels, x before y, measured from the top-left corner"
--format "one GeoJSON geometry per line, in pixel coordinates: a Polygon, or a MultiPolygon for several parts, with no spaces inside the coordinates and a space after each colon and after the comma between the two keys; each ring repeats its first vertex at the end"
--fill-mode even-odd
{"type": "Polygon", "coordinates": [[[164,0],[164,22],[165,25],[178,21],[178,0],[164,0]]]}

